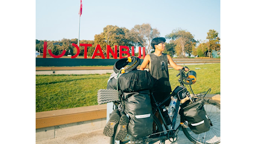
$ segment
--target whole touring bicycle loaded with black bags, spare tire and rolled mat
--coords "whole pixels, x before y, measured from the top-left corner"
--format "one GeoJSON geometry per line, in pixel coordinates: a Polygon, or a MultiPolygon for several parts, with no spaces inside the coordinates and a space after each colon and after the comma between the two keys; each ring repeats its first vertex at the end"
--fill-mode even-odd
{"type": "Polygon", "coordinates": [[[180,75],[178,79],[180,86],[176,86],[170,96],[158,102],[152,110],[149,98],[154,97],[150,91],[152,86],[145,85],[154,83],[154,80],[151,80],[147,72],[142,73],[132,67],[137,61],[139,60],[135,56],[118,60],[114,65],[115,73],[111,74],[108,80],[107,89],[100,89],[97,94],[98,104],[113,102],[110,120],[104,128],[104,135],[111,137],[110,144],[115,144],[115,142],[148,144],[157,141],[163,144],[166,140],[175,142],[178,140],[181,128],[192,143],[220,143],[220,104],[206,99],[210,94],[210,89],[205,94],[204,92],[194,94],[191,85],[197,80],[195,71],[191,70],[185,74],[185,71],[181,69],[176,75],[180,75]],[[130,65],[124,68],[127,64],[130,65]],[[168,114],[170,117],[166,117],[164,103],[171,99],[171,96],[176,96],[178,99],[176,99],[174,109],[171,109],[173,115],[168,114]],[[180,103],[183,104],[180,105],[180,103]],[[156,111],[161,111],[159,116],[163,125],[154,115],[156,111]],[[178,119],[178,114],[180,114],[180,119],[178,119]],[[171,118],[171,121],[168,122],[165,118],[171,118]],[[154,133],[153,122],[156,129],[154,133]]]}

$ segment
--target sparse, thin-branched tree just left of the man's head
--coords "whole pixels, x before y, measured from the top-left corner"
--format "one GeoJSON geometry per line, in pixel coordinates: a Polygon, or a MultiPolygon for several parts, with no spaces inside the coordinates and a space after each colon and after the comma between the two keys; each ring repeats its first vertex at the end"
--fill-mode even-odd
{"type": "Polygon", "coordinates": [[[146,49],[146,54],[150,53],[151,41],[153,38],[160,37],[160,32],[156,28],[151,28],[148,23],[137,24],[130,30],[131,39],[135,43],[141,44],[146,49]]]}

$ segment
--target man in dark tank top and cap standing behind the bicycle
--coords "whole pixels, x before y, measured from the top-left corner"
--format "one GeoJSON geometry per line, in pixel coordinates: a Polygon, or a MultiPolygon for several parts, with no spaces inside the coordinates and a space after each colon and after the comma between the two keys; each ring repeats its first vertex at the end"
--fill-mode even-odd
{"type": "MultiPolygon", "coordinates": [[[[164,54],[165,50],[165,41],[166,39],[163,37],[157,37],[152,39],[151,46],[153,49],[155,49],[154,53],[148,54],[145,56],[141,66],[140,70],[144,70],[149,64],[149,73],[153,78],[156,79],[156,83],[154,85],[154,90],[152,90],[152,93],[155,97],[155,100],[157,102],[161,102],[165,99],[165,97],[168,97],[171,92],[171,85],[169,81],[169,72],[168,72],[168,63],[175,69],[185,69],[185,71],[188,71],[189,69],[186,66],[180,66],[174,63],[173,59],[170,55],[164,54]]],[[[151,99],[151,105],[154,107],[154,101],[151,99]]],[[[166,101],[164,103],[165,106],[169,106],[170,100],[166,101]]],[[[158,117],[159,113],[156,111],[155,116],[158,117]]],[[[163,124],[163,121],[159,117],[159,121],[161,124],[163,124]]],[[[155,127],[154,127],[155,130],[155,127]]]]}

